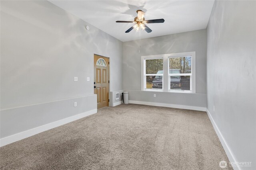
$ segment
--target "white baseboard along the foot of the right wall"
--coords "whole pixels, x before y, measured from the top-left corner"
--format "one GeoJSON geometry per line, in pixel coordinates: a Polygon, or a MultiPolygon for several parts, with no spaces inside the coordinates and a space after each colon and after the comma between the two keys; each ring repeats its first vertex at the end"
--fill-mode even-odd
{"type": "MultiPolygon", "coordinates": [[[[232,151],[230,150],[230,148],[228,147],[228,144],[226,143],[224,137],[222,136],[222,133],[220,132],[218,126],[216,125],[214,119],[212,118],[211,113],[209,112],[209,110],[206,108],[206,113],[210,119],[210,121],[212,122],[212,126],[214,127],[214,130],[216,132],[216,134],[218,135],[218,138],[220,139],[220,143],[222,145],[222,147],[224,148],[227,156],[228,156],[228,160],[229,162],[236,162],[236,159],[234,158],[234,155],[232,154],[232,151]]],[[[237,165],[237,166],[233,166],[234,170],[241,170],[241,168],[237,165]]]]}

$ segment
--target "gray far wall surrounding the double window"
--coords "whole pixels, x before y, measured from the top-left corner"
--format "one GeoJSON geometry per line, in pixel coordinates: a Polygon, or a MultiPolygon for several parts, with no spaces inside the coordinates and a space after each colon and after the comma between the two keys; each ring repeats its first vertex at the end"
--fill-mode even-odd
{"type": "MultiPolygon", "coordinates": [[[[193,95],[193,100],[196,101],[201,98],[201,94],[205,94],[204,100],[206,101],[206,29],[142,39],[140,45],[139,53],[139,40],[128,41],[123,44],[123,81],[125,90],[141,90],[141,56],[196,51],[196,93],[200,94],[200,97],[193,95]]],[[[146,96],[147,92],[142,93],[143,95],[145,93],[146,96]]],[[[160,95],[163,95],[159,97],[166,97],[164,101],[169,104],[174,104],[170,98],[179,96],[177,93],[168,93],[167,95],[164,93],[168,92],[161,92],[160,95]]],[[[160,98],[158,100],[153,96],[142,98],[140,96],[142,94],[133,93],[133,95],[136,95],[130,96],[133,100],[162,102],[160,98]]],[[[187,94],[187,96],[189,95],[187,94]]],[[[184,96],[184,94],[180,94],[180,96],[184,96]]],[[[198,100],[195,103],[190,101],[190,98],[182,97],[175,104],[206,107],[206,102],[202,106],[200,101],[198,100]]]]}

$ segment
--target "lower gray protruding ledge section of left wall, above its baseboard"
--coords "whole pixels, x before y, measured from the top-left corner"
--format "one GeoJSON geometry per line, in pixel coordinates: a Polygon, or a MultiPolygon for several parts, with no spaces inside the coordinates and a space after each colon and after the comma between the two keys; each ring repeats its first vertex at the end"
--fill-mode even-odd
{"type": "Polygon", "coordinates": [[[96,100],[97,95],[93,94],[84,97],[1,110],[0,137],[2,139],[79,113],[89,111],[96,113],[96,100]],[[74,102],[77,102],[77,107],[74,107],[74,102]]]}

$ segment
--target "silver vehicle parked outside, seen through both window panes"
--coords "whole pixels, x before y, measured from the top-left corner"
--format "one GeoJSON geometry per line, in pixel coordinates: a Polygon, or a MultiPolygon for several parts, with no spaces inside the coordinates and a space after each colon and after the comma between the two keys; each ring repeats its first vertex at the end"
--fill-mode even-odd
{"type": "MultiPolygon", "coordinates": [[[[180,74],[179,69],[170,69],[170,73],[172,74],[180,74]]],[[[158,70],[156,74],[163,74],[163,70],[158,70]]],[[[171,76],[171,83],[170,83],[170,88],[180,88],[180,76],[171,76]]],[[[163,88],[163,78],[162,76],[156,76],[154,80],[152,81],[152,88],[163,88]]]]}

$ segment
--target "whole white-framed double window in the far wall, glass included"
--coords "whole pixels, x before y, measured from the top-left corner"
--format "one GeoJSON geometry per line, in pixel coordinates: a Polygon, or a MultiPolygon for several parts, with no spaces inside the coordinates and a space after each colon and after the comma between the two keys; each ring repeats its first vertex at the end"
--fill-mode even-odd
{"type": "Polygon", "coordinates": [[[195,93],[195,52],[142,56],[142,90],[195,93]]]}

